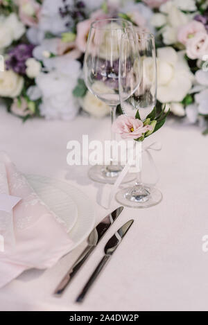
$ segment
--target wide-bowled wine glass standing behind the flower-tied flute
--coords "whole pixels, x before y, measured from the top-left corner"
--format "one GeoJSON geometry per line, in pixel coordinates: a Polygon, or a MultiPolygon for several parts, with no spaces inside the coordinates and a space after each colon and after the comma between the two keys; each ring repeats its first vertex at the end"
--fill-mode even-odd
{"type": "MultiPolygon", "coordinates": [[[[87,39],[84,60],[85,83],[94,96],[110,106],[112,123],[116,116],[116,106],[120,103],[120,44],[121,36],[127,28],[133,31],[132,23],[125,19],[97,20],[92,23],[87,39]]],[[[114,132],[111,132],[111,141],[114,139],[114,132]]],[[[108,166],[96,165],[89,169],[89,177],[94,181],[113,184],[123,169],[121,164],[114,161],[112,148],[108,166]]],[[[134,178],[135,175],[128,175],[125,182],[134,178]]]]}

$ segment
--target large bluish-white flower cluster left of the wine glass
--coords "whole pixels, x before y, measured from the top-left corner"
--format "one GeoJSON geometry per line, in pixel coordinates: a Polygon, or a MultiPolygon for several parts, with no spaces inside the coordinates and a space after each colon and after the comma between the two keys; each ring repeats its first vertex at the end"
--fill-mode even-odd
{"type": "Polygon", "coordinates": [[[47,119],[71,120],[79,109],[72,91],[80,75],[80,63],[60,57],[54,58],[50,67],[49,73],[41,72],[36,78],[37,87],[42,91],[40,113],[47,119]]]}

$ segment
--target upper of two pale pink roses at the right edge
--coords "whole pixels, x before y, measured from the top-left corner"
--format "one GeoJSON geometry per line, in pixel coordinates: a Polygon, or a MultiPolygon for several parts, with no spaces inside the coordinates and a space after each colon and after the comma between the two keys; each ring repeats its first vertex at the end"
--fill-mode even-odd
{"type": "Polygon", "coordinates": [[[181,26],[177,33],[177,39],[182,44],[187,44],[188,40],[193,38],[196,33],[206,33],[205,26],[200,21],[193,20],[189,24],[181,26]]]}

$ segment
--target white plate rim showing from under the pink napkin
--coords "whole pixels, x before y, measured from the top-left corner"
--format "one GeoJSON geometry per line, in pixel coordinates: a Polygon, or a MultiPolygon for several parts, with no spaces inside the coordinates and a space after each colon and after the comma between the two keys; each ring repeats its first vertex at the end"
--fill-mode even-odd
{"type": "Polygon", "coordinates": [[[78,188],[72,186],[67,182],[61,182],[58,179],[52,179],[39,175],[27,175],[28,182],[33,186],[46,187],[53,186],[59,188],[61,191],[66,193],[68,197],[71,197],[73,202],[76,204],[78,215],[76,223],[69,232],[69,237],[73,241],[73,246],[70,251],[77,247],[83,242],[92,231],[95,224],[94,209],[89,197],[85,195],[78,188]]]}

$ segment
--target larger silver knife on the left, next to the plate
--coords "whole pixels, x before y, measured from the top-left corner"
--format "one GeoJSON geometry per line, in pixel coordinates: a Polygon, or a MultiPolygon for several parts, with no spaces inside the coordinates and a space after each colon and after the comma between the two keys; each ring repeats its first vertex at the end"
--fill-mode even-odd
{"type": "Polygon", "coordinates": [[[87,238],[88,245],[83,251],[82,254],[78,257],[75,263],[70,267],[67,274],[63,277],[62,281],[60,281],[57,288],[55,288],[54,295],[60,297],[64,290],[67,288],[68,284],[73,279],[73,276],[80,270],[80,267],[85,263],[88,256],[93,252],[96,245],[98,245],[99,241],[105,235],[107,229],[114,223],[116,218],[118,218],[119,214],[123,211],[123,207],[119,207],[114,210],[112,213],[108,214],[98,225],[92,230],[87,238]]]}

